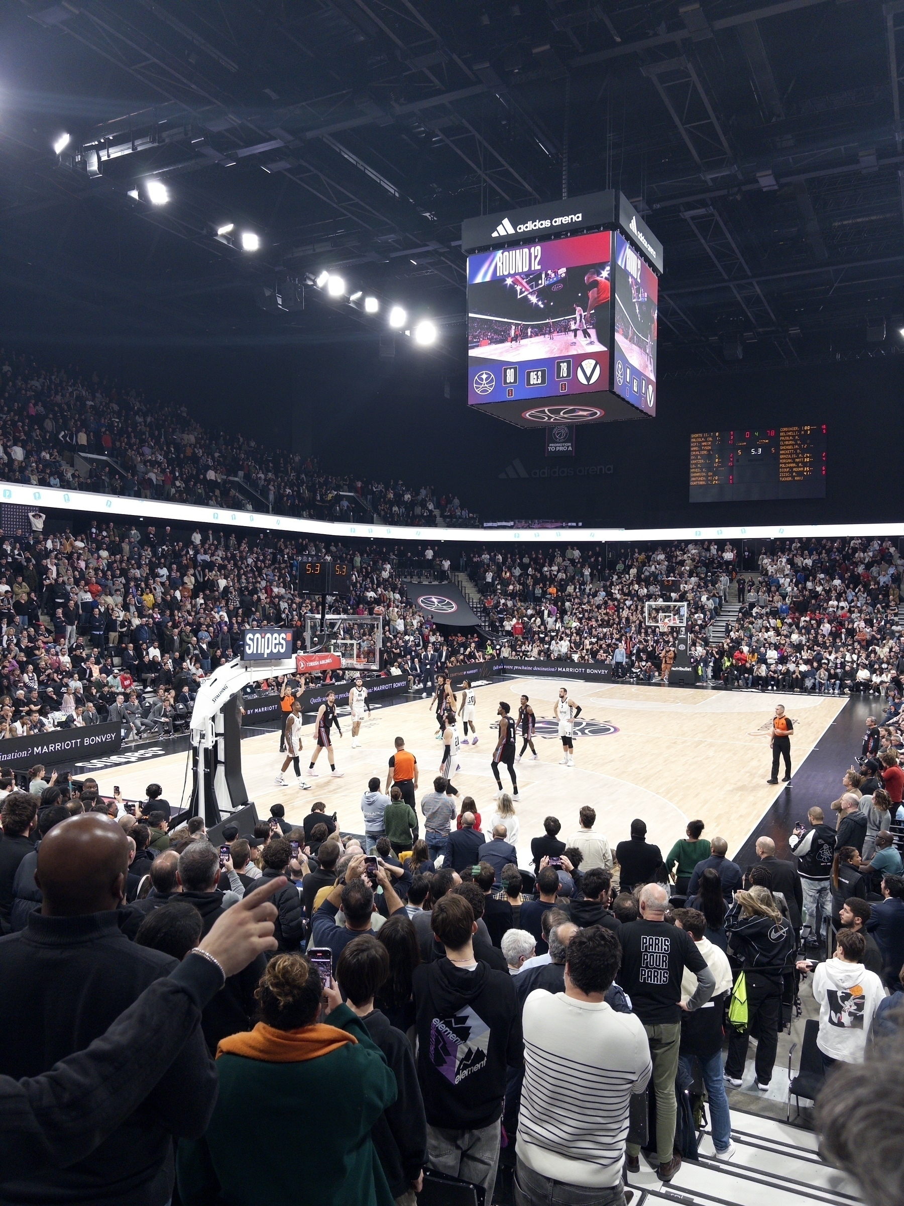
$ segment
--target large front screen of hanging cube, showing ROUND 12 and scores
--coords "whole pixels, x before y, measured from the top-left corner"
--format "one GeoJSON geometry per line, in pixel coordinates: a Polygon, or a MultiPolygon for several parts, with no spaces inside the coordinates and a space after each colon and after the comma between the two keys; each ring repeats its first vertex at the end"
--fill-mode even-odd
{"type": "Polygon", "coordinates": [[[468,402],[609,388],[612,233],[468,257],[468,402]]]}

